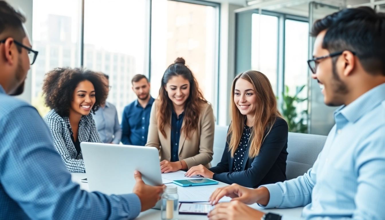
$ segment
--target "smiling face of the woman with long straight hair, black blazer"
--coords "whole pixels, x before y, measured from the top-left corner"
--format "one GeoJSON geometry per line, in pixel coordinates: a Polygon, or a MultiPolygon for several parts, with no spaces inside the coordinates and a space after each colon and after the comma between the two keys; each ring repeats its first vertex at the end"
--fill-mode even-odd
{"type": "Polygon", "coordinates": [[[257,96],[253,84],[239,78],[235,82],[234,103],[241,114],[254,117],[257,109],[257,96]]]}

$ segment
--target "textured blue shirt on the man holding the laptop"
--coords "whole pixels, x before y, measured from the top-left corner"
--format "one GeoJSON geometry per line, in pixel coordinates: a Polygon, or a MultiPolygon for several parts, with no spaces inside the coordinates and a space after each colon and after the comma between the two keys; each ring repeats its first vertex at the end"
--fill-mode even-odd
{"type": "Polygon", "coordinates": [[[133,219],[140,210],[135,194],[72,183],[37,110],[0,86],[0,219],[133,219]]]}

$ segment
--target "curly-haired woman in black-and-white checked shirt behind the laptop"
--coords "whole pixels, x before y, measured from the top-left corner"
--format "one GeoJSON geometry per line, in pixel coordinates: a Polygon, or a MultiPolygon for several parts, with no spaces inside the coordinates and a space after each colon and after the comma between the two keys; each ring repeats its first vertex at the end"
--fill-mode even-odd
{"type": "Polygon", "coordinates": [[[45,74],[43,92],[52,109],[44,121],[55,149],[70,172],[85,172],[80,142],[102,143],[90,115],[107,97],[102,76],[79,68],[56,68],[45,74]]]}

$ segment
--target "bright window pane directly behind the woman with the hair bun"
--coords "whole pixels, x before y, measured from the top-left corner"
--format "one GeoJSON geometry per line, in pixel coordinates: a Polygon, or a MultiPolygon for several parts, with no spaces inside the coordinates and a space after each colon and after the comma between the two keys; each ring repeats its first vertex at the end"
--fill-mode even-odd
{"type": "Polygon", "coordinates": [[[218,71],[218,13],[213,6],[152,1],[151,94],[157,97],[164,71],[183,57],[204,97],[214,106],[218,71]]]}

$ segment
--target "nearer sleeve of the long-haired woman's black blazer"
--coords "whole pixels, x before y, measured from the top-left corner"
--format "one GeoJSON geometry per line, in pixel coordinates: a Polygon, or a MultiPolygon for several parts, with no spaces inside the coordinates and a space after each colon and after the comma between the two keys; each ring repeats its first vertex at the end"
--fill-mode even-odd
{"type": "Polygon", "coordinates": [[[258,186],[277,160],[287,140],[288,124],[283,119],[277,119],[263,141],[259,155],[253,159],[251,167],[240,172],[218,173],[213,176],[213,179],[228,184],[237,183],[250,188],[258,186]]]}

